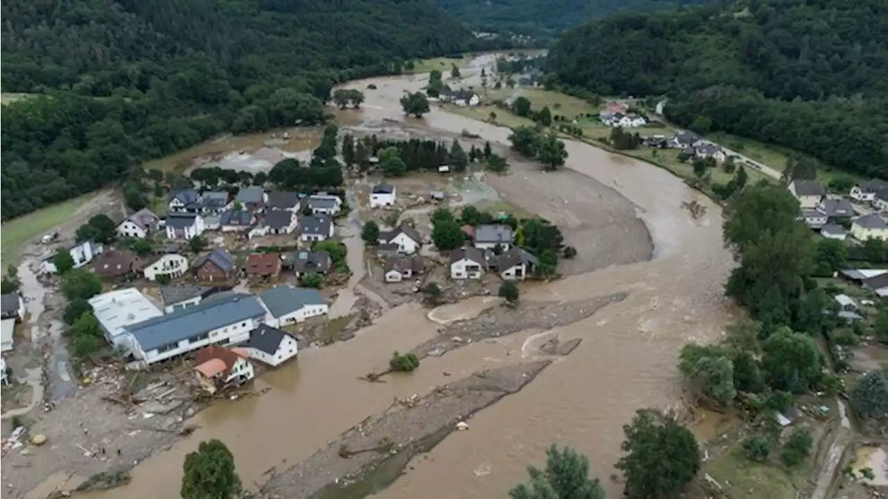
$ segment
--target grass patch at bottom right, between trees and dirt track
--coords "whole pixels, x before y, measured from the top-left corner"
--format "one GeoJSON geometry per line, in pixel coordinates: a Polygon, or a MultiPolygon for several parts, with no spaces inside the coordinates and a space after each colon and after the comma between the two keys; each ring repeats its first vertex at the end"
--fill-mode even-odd
{"type": "MultiPolygon", "coordinates": [[[[810,471],[811,458],[795,471],[803,480],[810,471]]],[[[725,492],[734,499],[796,499],[796,477],[781,469],[777,463],[754,463],[744,455],[740,446],[718,457],[706,469],[725,492]],[[730,483],[730,486],[727,484],[730,483]]]]}

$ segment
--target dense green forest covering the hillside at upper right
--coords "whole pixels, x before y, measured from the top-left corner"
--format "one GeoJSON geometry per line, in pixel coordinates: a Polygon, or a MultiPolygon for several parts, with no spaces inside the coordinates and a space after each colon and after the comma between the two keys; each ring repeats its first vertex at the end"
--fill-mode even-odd
{"type": "Polygon", "coordinates": [[[574,93],[668,95],[668,117],[888,178],[888,4],[749,0],[625,15],[550,52],[574,93]]]}

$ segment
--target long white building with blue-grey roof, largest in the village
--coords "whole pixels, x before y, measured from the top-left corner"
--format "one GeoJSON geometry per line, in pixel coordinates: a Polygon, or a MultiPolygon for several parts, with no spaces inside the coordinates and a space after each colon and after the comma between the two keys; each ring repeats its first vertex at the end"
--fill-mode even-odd
{"type": "Polygon", "coordinates": [[[203,346],[234,345],[250,339],[266,316],[257,297],[242,293],[204,299],[174,313],[126,326],[125,340],[138,367],[168,360],[203,346]]]}

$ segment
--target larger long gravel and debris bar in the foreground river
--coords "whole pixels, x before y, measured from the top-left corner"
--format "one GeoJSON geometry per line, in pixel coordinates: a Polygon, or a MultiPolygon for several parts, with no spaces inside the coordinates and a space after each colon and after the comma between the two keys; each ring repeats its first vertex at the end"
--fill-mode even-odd
{"type": "MultiPolygon", "coordinates": [[[[274,474],[258,493],[264,499],[299,499],[345,492],[362,480],[387,484],[409,459],[425,452],[464,420],[533,381],[550,360],[482,371],[434,389],[428,395],[396,400],[311,457],[274,474]],[[392,463],[396,465],[392,465],[392,463]]],[[[363,490],[363,489],[361,489],[363,490]]]]}

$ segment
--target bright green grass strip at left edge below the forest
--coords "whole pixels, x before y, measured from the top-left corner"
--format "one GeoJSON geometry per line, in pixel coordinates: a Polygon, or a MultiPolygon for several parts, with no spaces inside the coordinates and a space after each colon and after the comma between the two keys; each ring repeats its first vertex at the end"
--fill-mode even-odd
{"type": "Polygon", "coordinates": [[[0,226],[0,264],[15,263],[26,242],[61,225],[93,195],[84,194],[4,223],[0,226]]]}

